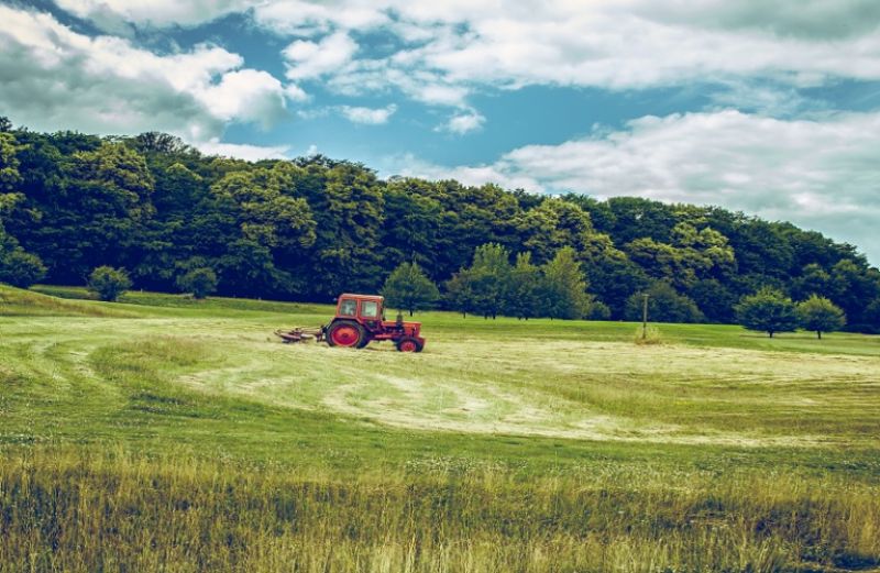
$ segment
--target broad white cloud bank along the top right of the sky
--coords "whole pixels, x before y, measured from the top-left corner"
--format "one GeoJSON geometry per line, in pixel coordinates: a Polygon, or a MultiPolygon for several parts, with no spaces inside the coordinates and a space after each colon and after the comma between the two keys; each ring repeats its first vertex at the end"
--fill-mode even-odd
{"type": "Polygon", "coordinates": [[[323,43],[351,31],[397,38],[381,57],[342,49],[345,57],[322,56],[333,65],[318,65],[319,73],[307,65],[298,77],[327,76],[331,88],[348,95],[396,87],[419,101],[462,108],[481,86],[623,90],[743,78],[788,86],[880,79],[880,4],[781,4],[333,0],[268,2],[255,18],[278,32],[323,34],[319,42],[295,43],[306,62],[333,54],[323,43]]]}

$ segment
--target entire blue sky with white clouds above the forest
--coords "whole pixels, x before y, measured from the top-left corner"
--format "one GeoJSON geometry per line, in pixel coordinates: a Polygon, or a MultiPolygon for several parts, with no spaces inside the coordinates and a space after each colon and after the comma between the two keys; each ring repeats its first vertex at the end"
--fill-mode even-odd
{"type": "Polygon", "coordinates": [[[716,205],[880,264],[877,0],[0,0],[0,115],[716,205]]]}

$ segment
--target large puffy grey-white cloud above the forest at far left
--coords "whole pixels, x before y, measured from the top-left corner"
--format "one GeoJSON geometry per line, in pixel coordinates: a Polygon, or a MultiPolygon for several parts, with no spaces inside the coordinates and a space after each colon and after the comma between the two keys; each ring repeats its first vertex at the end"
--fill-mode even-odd
{"type": "Polygon", "coordinates": [[[86,36],[46,13],[0,5],[0,106],[41,130],[164,130],[208,141],[231,121],[270,125],[287,90],[218,46],[160,56],[128,40],[86,36]]]}

